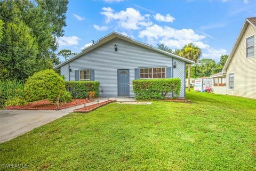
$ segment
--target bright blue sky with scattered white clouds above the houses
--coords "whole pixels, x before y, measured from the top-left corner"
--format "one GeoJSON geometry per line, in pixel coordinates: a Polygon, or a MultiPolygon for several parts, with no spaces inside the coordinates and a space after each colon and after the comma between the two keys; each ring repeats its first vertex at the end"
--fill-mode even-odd
{"type": "Polygon", "coordinates": [[[155,47],[192,42],[202,48],[202,58],[219,61],[231,51],[247,17],[256,17],[256,0],[70,0],[59,50],[78,53],[91,40],[117,31],[155,47]]]}

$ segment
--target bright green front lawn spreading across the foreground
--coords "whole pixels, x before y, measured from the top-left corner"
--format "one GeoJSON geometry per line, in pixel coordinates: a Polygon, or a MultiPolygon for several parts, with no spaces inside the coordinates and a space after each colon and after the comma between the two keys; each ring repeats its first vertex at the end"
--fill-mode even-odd
{"type": "MultiPolygon", "coordinates": [[[[29,170],[256,170],[256,101],[187,92],[193,103],[111,103],[0,144],[29,170]]],[[[1,168],[0,168],[1,169],[1,168]]]]}

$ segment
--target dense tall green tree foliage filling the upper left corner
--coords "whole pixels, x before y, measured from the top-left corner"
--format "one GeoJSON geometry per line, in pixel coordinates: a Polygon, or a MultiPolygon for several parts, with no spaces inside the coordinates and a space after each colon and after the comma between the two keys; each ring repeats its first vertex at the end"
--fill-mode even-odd
{"type": "Polygon", "coordinates": [[[67,0],[0,1],[0,19],[4,22],[0,80],[26,79],[60,63],[55,51],[57,37],[63,35],[66,26],[67,4],[67,0]]]}

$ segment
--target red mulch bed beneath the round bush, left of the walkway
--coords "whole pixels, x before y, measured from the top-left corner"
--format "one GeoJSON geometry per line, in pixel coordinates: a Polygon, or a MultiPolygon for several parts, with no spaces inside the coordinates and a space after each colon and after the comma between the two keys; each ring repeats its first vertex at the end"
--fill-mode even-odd
{"type": "Polygon", "coordinates": [[[9,107],[5,107],[5,109],[9,109],[9,110],[60,110],[60,109],[74,107],[76,105],[89,103],[89,102],[92,102],[92,101],[86,100],[86,99],[73,99],[71,102],[63,103],[63,105],[61,107],[57,108],[49,100],[40,100],[40,101],[36,101],[36,102],[30,102],[25,105],[12,105],[9,107]]]}

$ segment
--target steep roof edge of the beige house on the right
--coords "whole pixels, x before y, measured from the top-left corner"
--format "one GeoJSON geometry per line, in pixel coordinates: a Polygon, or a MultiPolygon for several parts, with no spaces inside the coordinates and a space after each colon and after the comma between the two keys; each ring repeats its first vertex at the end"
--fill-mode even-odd
{"type": "Polygon", "coordinates": [[[252,25],[252,26],[256,29],[256,17],[251,17],[251,18],[246,18],[246,19],[245,19],[244,25],[243,25],[241,31],[239,32],[239,35],[238,35],[238,37],[237,37],[237,39],[236,39],[236,42],[235,42],[235,44],[234,44],[234,46],[233,46],[233,48],[232,48],[232,50],[231,50],[231,52],[230,52],[230,54],[229,54],[229,56],[228,56],[228,59],[227,59],[227,61],[226,61],[226,63],[225,63],[225,66],[224,66],[223,69],[222,69],[222,73],[223,73],[223,74],[226,73],[226,70],[227,70],[227,68],[228,68],[229,62],[230,62],[231,59],[233,58],[233,55],[234,55],[234,53],[235,53],[235,51],[236,51],[236,48],[237,48],[237,46],[238,46],[238,44],[239,44],[239,42],[240,42],[240,40],[241,40],[241,38],[242,38],[242,36],[243,36],[243,34],[244,34],[244,31],[245,31],[245,29],[246,29],[246,27],[247,27],[248,25],[252,25]]]}

